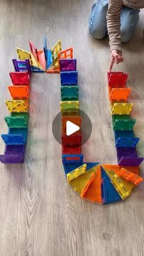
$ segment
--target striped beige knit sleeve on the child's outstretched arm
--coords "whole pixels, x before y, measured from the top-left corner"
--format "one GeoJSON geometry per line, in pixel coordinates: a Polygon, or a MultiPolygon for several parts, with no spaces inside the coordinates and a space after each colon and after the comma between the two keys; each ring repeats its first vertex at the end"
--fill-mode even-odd
{"type": "Polygon", "coordinates": [[[110,51],[118,49],[121,51],[120,15],[122,0],[109,0],[107,11],[107,30],[109,34],[110,51]]]}

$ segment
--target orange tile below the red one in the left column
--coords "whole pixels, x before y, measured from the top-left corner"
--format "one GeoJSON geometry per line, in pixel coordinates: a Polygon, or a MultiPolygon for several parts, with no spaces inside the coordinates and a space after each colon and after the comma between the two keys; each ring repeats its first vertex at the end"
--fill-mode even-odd
{"type": "Polygon", "coordinates": [[[12,98],[29,98],[29,86],[8,86],[12,98]]]}

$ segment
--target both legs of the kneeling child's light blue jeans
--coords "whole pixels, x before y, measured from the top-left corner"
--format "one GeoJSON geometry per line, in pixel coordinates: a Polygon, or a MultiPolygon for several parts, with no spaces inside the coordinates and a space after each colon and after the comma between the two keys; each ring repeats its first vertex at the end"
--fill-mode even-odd
{"type": "MultiPolygon", "coordinates": [[[[107,34],[107,15],[108,0],[97,0],[92,6],[89,18],[89,32],[96,38],[104,38],[107,34]]],[[[128,42],[134,34],[139,21],[140,10],[134,10],[123,6],[121,10],[121,42],[128,42]]]]}

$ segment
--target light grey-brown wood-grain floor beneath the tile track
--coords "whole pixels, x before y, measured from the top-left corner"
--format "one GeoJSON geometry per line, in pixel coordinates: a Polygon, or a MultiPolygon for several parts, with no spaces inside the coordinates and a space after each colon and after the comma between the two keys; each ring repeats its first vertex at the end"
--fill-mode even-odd
{"type": "MultiPolygon", "coordinates": [[[[96,41],[88,35],[92,4],[92,0],[0,1],[0,133],[7,133],[4,100],[10,99],[7,86],[16,46],[29,49],[30,38],[41,48],[46,35],[51,48],[61,38],[63,49],[74,48],[81,109],[93,125],[92,136],[82,147],[85,160],[117,164],[107,97],[109,45],[107,38],[96,41]]],[[[141,12],[135,37],[123,45],[125,62],[114,68],[129,73],[139,156],[144,156],[143,23],[141,12]]],[[[61,147],[52,136],[59,101],[59,75],[32,75],[25,163],[0,165],[0,256],[143,256],[143,184],[124,202],[103,206],[81,200],[67,185],[61,147]]],[[[4,153],[2,139],[0,145],[4,153]]]]}

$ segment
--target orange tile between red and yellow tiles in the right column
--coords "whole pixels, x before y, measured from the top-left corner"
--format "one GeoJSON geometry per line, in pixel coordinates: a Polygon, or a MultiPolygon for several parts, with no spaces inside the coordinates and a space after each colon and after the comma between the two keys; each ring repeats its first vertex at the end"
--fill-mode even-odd
{"type": "Polygon", "coordinates": [[[131,88],[111,88],[109,87],[109,100],[127,101],[131,88]]]}

